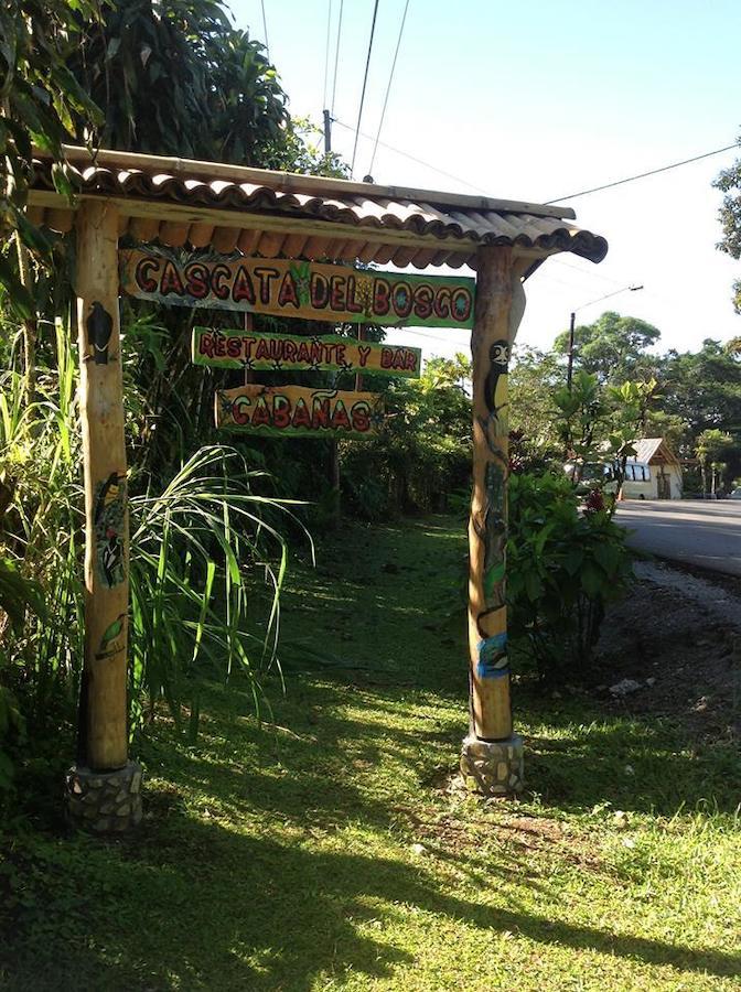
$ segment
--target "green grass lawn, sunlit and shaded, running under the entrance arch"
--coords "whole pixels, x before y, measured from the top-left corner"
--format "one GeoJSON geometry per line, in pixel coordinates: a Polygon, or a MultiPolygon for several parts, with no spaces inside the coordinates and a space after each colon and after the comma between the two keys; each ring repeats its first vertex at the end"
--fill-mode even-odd
{"type": "Polygon", "coordinates": [[[213,687],[196,746],[141,745],[138,835],[0,831],[0,989],[741,988],[730,745],[515,686],[529,791],[455,783],[464,550],[344,525],[292,569],[269,725],[213,687]]]}

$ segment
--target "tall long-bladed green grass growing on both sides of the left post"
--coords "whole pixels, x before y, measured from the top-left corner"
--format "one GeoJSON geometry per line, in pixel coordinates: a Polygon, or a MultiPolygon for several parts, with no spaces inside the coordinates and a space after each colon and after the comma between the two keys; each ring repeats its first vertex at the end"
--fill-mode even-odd
{"type": "MultiPolygon", "coordinates": [[[[23,370],[0,374],[6,780],[9,755],[22,740],[72,733],[84,665],[76,360],[67,324],[43,330],[51,333],[40,349],[32,402],[23,370]]],[[[131,382],[127,406],[131,424],[131,410],[139,417],[146,408],[131,382]]],[[[262,495],[270,488],[266,473],[225,445],[201,446],[157,472],[135,462],[129,488],[131,732],[162,700],[193,736],[204,679],[225,681],[238,670],[259,708],[259,675],[276,657],[286,533],[301,530],[287,502],[262,495]]]]}

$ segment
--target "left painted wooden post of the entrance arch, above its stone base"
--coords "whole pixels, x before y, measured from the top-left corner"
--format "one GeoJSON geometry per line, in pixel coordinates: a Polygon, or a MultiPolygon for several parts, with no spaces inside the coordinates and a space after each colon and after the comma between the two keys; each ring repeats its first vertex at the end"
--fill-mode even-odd
{"type": "Polygon", "coordinates": [[[84,203],[77,215],[76,291],[86,518],[80,753],[104,772],[128,756],[129,601],[118,212],[105,201],[84,203]]]}

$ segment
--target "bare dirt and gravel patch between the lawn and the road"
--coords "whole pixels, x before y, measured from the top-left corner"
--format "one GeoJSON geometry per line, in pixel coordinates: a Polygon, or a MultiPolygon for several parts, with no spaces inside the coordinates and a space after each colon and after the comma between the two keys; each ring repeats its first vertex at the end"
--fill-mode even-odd
{"type": "Polygon", "coordinates": [[[613,710],[678,718],[700,738],[741,740],[741,581],[638,562],[598,646],[593,691],[613,710]],[[638,682],[615,698],[610,687],[638,682]]]}

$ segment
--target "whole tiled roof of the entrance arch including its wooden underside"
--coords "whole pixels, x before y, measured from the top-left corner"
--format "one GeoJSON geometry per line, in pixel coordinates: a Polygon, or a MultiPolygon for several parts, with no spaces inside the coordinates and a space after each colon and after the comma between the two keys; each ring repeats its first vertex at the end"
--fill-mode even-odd
{"type": "MultiPolygon", "coordinates": [[[[119,151],[101,150],[94,159],[84,148],[65,151],[79,197],[112,198],[121,234],[171,247],[417,268],[475,268],[481,245],[512,246],[535,262],[559,251],[599,262],[608,251],[603,237],[569,223],[569,207],[119,151]]],[[[51,161],[39,155],[34,166],[34,219],[69,229],[74,216],[54,191],[51,161]]]]}

